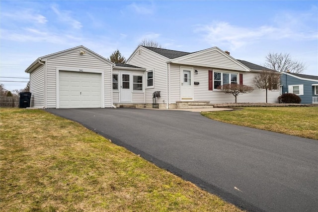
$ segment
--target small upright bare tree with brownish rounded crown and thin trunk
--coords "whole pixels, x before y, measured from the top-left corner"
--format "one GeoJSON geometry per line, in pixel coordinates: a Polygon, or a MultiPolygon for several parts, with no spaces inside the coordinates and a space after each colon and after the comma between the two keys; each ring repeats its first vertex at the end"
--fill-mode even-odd
{"type": "Polygon", "coordinates": [[[277,90],[279,85],[280,73],[275,71],[262,71],[254,77],[255,86],[258,89],[266,90],[266,103],[267,103],[267,91],[277,90]]]}

